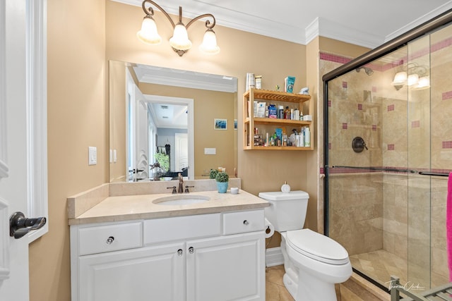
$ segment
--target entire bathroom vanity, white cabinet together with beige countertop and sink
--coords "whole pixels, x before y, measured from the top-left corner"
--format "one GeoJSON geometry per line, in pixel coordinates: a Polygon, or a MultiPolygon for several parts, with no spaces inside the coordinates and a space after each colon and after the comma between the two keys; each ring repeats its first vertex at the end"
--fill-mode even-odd
{"type": "Polygon", "coordinates": [[[69,219],[72,300],[265,300],[267,206],[243,190],[106,197],[69,219]]]}

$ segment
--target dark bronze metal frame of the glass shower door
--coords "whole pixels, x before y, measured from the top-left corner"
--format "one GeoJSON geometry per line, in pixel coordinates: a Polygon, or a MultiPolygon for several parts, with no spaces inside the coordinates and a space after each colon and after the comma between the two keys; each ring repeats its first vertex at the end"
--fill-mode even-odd
{"type": "MultiPolygon", "coordinates": [[[[444,13],[441,13],[439,16],[436,16],[435,18],[432,18],[432,20],[427,21],[426,23],[423,23],[422,25],[419,25],[412,30],[409,30],[408,32],[405,32],[405,34],[400,35],[399,37],[396,37],[394,39],[391,39],[390,41],[382,44],[379,47],[376,47],[375,49],[367,52],[366,54],[363,54],[362,56],[357,57],[356,59],[353,59],[352,61],[345,63],[343,66],[340,66],[334,70],[332,70],[329,73],[326,73],[323,75],[323,172],[325,173],[325,181],[329,180],[329,162],[328,162],[328,156],[329,156],[329,150],[328,150],[328,81],[333,80],[335,78],[338,78],[341,75],[345,75],[345,73],[348,73],[352,70],[355,70],[356,68],[360,66],[364,66],[367,63],[371,63],[371,61],[375,61],[376,59],[380,59],[383,56],[386,56],[387,54],[390,54],[391,52],[395,51],[396,49],[400,49],[401,47],[405,47],[408,45],[408,43],[414,41],[415,39],[422,37],[423,35],[427,35],[434,30],[439,29],[440,27],[443,27],[445,25],[448,25],[448,23],[452,23],[452,9],[449,11],[446,11],[444,13]]],[[[406,170],[408,173],[412,173],[413,171],[406,170]]],[[[417,173],[417,171],[414,171],[417,173]]],[[[421,171],[419,172],[420,175],[425,176],[445,176],[444,174],[439,173],[429,173],[421,171]]],[[[446,175],[448,176],[448,175],[446,175]]],[[[328,185],[323,185],[323,229],[324,234],[329,236],[329,201],[328,201],[328,185]]],[[[369,278],[369,276],[363,274],[360,271],[357,271],[356,269],[353,269],[357,274],[360,276],[366,278],[371,283],[374,283],[374,285],[378,286],[379,288],[386,290],[387,288],[378,283],[377,281],[374,281],[373,279],[369,278]]]]}

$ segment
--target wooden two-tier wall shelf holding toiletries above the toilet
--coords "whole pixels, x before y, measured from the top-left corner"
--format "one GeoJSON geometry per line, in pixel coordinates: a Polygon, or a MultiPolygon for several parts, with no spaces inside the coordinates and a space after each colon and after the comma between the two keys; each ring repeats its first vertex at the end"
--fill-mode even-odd
{"type": "Polygon", "coordinates": [[[309,102],[307,110],[309,114],[312,115],[314,112],[313,104],[310,95],[306,94],[295,94],[286,93],[279,91],[270,90],[260,90],[260,89],[250,89],[243,94],[243,121],[244,121],[244,141],[243,149],[278,149],[278,150],[312,150],[314,149],[314,127],[313,121],[298,121],[291,119],[280,119],[280,118],[258,118],[254,117],[254,101],[265,101],[266,106],[268,104],[283,105],[284,107],[290,106],[292,109],[296,104],[297,109],[303,111],[304,102],[309,102]],[[254,128],[258,127],[259,130],[266,130],[267,133],[273,134],[275,128],[285,128],[287,135],[292,133],[292,129],[300,130],[302,127],[308,127],[311,133],[311,146],[310,147],[284,147],[284,146],[260,146],[254,145],[254,128]]]}

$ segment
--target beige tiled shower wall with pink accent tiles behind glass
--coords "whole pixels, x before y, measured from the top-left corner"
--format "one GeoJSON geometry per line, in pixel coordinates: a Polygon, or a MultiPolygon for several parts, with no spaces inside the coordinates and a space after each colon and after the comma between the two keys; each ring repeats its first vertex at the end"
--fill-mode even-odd
{"type": "MultiPolygon", "coordinates": [[[[329,82],[330,167],[452,170],[451,37],[446,27],[399,50],[404,53],[370,63],[371,76],[354,70],[329,82]],[[391,85],[407,60],[430,67],[430,89],[391,85]],[[368,150],[353,152],[356,136],[368,150]]],[[[347,61],[321,54],[321,73],[347,61]]],[[[447,178],[332,168],[329,235],[350,254],[384,249],[423,271],[431,268],[432,282],[446,281],[446,185],[447,178]]],[[[424,275],[410,277],[426,281],[424,275]]]]}

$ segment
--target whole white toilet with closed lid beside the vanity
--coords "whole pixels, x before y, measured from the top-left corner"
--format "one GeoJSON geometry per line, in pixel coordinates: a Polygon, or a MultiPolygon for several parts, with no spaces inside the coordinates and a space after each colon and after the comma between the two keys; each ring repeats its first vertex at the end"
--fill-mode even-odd
{"type": "Polygon", "coordinates": [[[266,219],[281,234],[283,282],[296,301],[334,301],[335,283],[352,275],[345,248],[335,240],[303,229],[309,195],[304,191],[260,192],[270,202],[266,219]]]}

